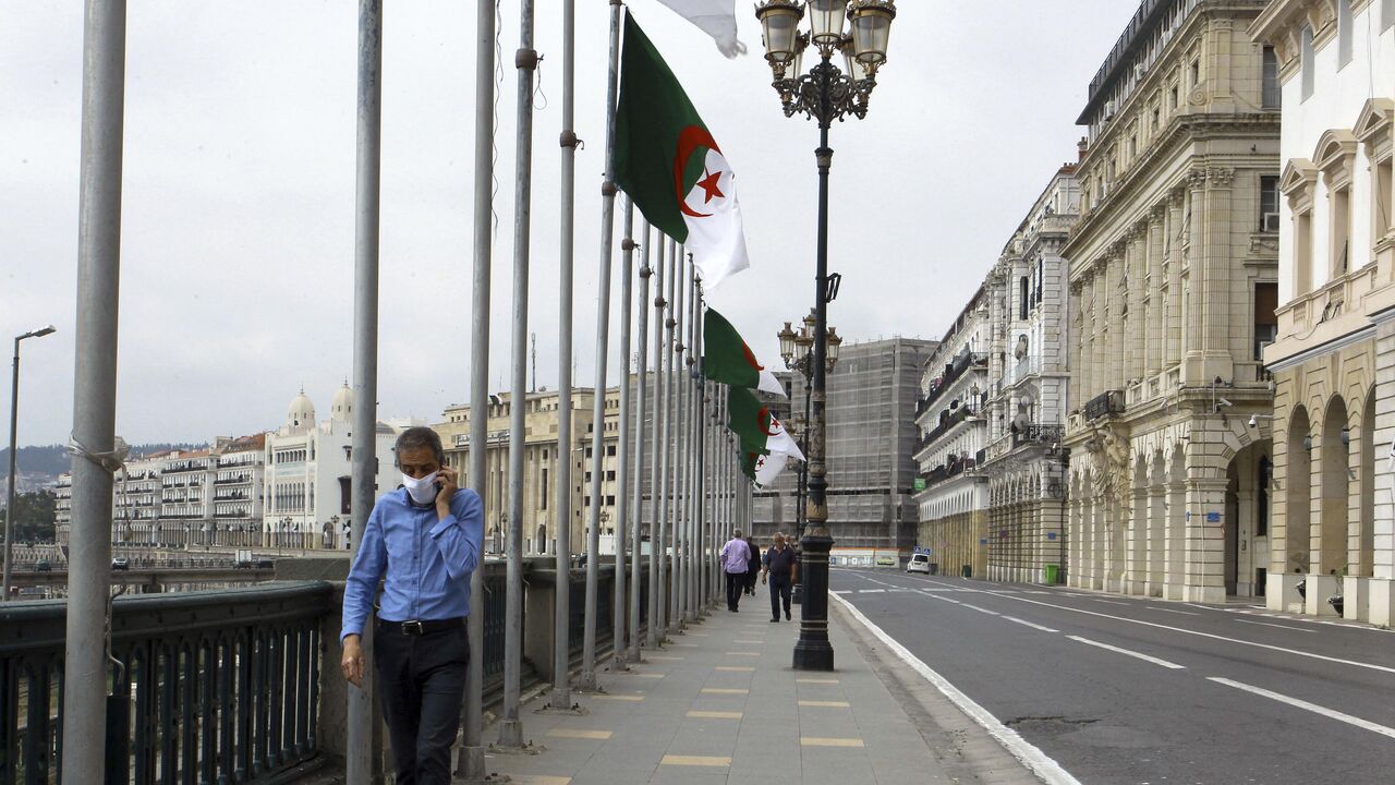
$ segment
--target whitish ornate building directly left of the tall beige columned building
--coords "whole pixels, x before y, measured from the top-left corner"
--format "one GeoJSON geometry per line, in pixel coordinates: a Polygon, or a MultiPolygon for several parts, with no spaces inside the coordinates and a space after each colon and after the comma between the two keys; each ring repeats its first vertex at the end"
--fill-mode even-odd
{"type": "Polygon", "coordinates": [[[1032,204],[988,277],[988,578],[1050,582],[1064,574],[1067,265],[1080,210],[1073,165],[1032,204]],[[1053,568],[1052,568],[1053,567],[1053,568]]]}

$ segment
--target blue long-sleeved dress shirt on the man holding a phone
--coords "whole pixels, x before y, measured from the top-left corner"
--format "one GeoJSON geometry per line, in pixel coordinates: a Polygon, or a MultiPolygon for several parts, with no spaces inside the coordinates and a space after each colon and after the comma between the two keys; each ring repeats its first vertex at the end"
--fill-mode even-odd
{"type": "Polygon", "coordinates": [[[458,619],[470,613],[470,574],[484,543],[484,503],[459,489],[451,514],[413,504],[405,489],[384,494],[368,515],[345,584],[345,636],[363,634],[378,580],[386,573],[378,617],[386,622],[458,619]]]}

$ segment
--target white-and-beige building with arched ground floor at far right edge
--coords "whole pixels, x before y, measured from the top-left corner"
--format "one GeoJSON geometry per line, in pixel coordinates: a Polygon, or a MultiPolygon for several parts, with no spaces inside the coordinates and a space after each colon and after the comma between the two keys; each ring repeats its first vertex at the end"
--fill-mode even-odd
{"type": "Polygon", "coordinates": [[[1275,53],[1283,105],[1267,602],[1389,626],[1377,455],[1395,437],[1395,3],[1275,0],[1250,32],[1275,53]]]}

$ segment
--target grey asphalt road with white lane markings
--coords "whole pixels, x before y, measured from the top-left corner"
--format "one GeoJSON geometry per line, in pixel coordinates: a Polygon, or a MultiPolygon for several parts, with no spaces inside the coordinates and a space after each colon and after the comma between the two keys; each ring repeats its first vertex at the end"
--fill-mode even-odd
{"type": "Polygon", "coordinates": [[[1084,784],[1395,784],[1395,633],[1060,587],[831,589],[1084,784]]]}

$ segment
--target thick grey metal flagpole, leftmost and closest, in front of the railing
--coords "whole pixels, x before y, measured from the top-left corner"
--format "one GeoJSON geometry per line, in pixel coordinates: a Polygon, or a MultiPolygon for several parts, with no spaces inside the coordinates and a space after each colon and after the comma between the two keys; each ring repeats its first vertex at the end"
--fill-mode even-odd
{"type": "MultiPolygon", "coordinates": [[[[88,0],[82,41],[82,159],[73,440],[116,447],[116,330],[121,281],[126,1],[88,0]]],[[[106,606],[112,591],[112,471],[73,458],[68,617],[63,663],[63,781],[106,768],[106,606]]]]}

